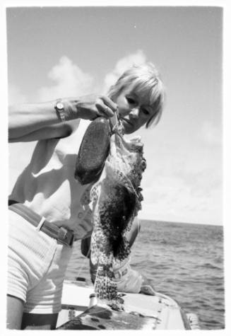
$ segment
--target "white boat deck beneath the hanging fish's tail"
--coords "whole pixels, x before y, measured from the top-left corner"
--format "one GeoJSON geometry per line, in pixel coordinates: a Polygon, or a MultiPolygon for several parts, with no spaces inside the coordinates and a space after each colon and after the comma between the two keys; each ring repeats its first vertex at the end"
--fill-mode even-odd
{"type": "Polygon", "coordinates": [[[57,329],[65,330],[186,330],[190,320],[178,303],[164,294],[124,293],[124,311],[93,302],[93,286],[64,282],[57,329]],[[90,299],[91,296],[91,299],[90,299]]]}

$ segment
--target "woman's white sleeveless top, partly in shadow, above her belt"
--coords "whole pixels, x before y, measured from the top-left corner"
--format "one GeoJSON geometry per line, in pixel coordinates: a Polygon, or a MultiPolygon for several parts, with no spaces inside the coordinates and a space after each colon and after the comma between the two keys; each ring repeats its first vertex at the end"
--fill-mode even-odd
{"type": "Polygon", "coordinates": [[[93,229],[90,207],[81,203],[90,185],[81,185],[74,178],[78,149],[88,124],[89,120],[75,120],[69,137],[38,141],[9,197],[57,226],[73,230],[75,239],[88,236],[93,229]]]}

